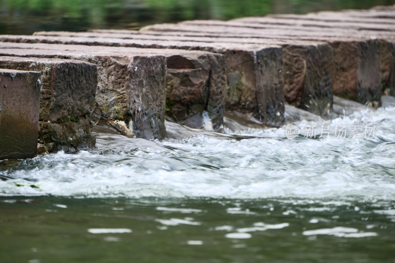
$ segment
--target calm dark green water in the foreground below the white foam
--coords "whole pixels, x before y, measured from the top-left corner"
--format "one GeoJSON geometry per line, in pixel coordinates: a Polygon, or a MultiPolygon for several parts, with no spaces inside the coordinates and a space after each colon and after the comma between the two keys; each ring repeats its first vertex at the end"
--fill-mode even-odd
{"type": "Polygon", "coordinates": [[[2,263],[395,262],[394,204],[2,197],[0,258],[2,263]],[[334,227],[342,227],[343,236],[336,236],[334,227]],[[91,228],[131,232],[90,233],[91,228]],[[326,228],[330,233],[308,232],[326,228]],[[227,237],[235,232],[250,237],[227,237]]]}

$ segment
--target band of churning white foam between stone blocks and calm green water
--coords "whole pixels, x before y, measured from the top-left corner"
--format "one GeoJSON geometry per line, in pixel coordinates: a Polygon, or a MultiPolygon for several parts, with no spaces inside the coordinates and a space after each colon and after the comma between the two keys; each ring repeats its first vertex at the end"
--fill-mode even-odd
{"type": "MultiPolygon", "coordinates": [[[[6,172],[15,179],[0,181],[0,195],[291,198],[292,202],[307,198],[329,202],[311,208],[312,212],[333,211],[355,200],[394,201],[395,108],[365,110],[333,119],[330,125],[360,123],[375,124],[377,136],[369,140],[288,140],[281,130],[285,126],[250,129],[239,134],[260,138],[242,140],[201,135],[153,142],[96,134],[96,150],[38,156],[25,162],[24,169],[6,172]],[[23,178],[35,179],[39,188],[16,186],[29,183],[23,178]]],[[[172,212],[174,208],[160,209],[172,212]]],[[[181,211],[201,213],[173,212],[181,211]]],[[[256,215],[244,208],[227,212],[256,215]]]]}

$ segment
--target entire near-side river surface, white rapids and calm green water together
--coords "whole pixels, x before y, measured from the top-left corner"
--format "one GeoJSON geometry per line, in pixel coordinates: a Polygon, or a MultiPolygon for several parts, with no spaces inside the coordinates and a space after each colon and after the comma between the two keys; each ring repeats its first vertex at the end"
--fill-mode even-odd
{"type": "Polygon", "coordinates": [[[1,161],[0,262],[394,263],[394,104],[317,121],[1,161]]]}

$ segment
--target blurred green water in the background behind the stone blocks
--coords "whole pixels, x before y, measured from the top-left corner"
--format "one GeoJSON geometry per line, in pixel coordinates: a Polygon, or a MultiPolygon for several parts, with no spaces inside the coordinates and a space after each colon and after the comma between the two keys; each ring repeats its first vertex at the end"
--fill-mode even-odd
{"type": "Polygon", "coordinates": [[[269,13],[307,13],[391,5],[395,0],[1,0],[0,34],[138,29],[191,19],[227,20],[269,13]]]}

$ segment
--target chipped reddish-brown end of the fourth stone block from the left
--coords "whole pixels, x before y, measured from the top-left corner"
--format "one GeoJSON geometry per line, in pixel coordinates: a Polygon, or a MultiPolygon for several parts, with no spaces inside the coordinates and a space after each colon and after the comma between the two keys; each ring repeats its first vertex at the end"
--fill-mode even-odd
{"type": "Polygon", "coordinates": [[[218,129],[224,115],[225,58],[203,53],[166,60],[166,113],[190,127],[218,129]]]}

